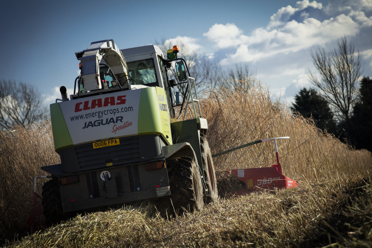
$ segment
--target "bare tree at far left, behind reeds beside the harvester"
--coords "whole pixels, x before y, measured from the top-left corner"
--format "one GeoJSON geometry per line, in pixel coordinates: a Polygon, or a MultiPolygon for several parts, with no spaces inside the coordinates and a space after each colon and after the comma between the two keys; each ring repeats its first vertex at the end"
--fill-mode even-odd
{"type": "Polygon", "coordinates": [[[25,125],[46,118],[47,108],[42,104],[42,94],[34,86],[0,81],[0,125],[8,129],[12,125],[25,125]]]}

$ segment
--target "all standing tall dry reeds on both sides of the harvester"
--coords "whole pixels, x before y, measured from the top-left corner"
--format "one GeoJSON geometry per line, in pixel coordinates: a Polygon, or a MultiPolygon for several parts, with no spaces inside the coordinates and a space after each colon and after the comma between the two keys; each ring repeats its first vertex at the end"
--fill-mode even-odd
{"type": "MultiPolygon", "coordinates": [[[[341,174],[366,175],[371,152],[354,150],[329,134],[322,134],[310,120],[292,117],[285,108],[273,107],[262,85],[230,91],[212,90],[201,101],[208,120],[212,153],[219,153],[258,139],[290,136],[278,141],[283,172],[297,180],[330,178],[341,174]],[[316,173],[316,174],[315,174],[316,173]]],[[[31,178],[45,175],[40,166],[59,163],[54,152],[50,123],[0,131],[0,239],[20,230],[32,208],[31,178]]],[[[219,169],[252,168],[275,162],[272,142],[237,150],[214,159],[219,169]]],[[[43,180],[38,181],[41,192],[43,180]]]]}

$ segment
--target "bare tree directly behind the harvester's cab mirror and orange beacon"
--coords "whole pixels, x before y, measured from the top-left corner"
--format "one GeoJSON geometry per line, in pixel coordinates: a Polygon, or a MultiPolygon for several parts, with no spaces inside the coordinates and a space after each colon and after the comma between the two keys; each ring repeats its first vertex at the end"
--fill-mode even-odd
{"type": "MultiPolygon", "coordinates": [[[[183,44],[181,40],[177,40],[175,42],[176,44],[171,44],[163,38],[160,42],[155,41],[154,43],[163,51],[164,56],[167,56],[167,50],[172,49],[173,45],[178,46],[178,57],[187,61],[191,77],[195,78],[195,85],[198,92],[202,92],[207,88],[215,88],[219,85],[220,80],[222,80],[222,69],[219,60],[214,56],[201,53],[200,51],[193,51],[187,45],[183,44]]],[[[174,62],[172,67],[168,69],[168,75],[170,77],[169,79],[176,79],[177,83],[179,83],[174,62]]],[[[180,94],[185,95],[187,85],[181,84],[178,86],[180,94]]]]}

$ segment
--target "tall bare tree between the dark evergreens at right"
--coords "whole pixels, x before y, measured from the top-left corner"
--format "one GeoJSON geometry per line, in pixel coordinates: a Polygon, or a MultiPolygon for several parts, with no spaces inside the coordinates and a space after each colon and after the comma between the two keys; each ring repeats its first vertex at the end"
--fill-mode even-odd
{"type": "Polygon", "coordinates": [[[313,63],[320,76],[310,70],[310,82],[320,89],[324,98],[335,109],[339,121],[350,127],[350,113],[357,97],[358,79],[362,75],[363,60],[355,45],[346,38],[337,39],[337,47],[326,51],[317,47],[310,51],[313,63]]]}

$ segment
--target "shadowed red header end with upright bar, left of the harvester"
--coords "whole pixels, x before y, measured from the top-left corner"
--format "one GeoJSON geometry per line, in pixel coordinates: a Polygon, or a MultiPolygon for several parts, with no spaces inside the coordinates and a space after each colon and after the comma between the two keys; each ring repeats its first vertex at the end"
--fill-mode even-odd
{"type": "MultiPolygon", "coordinates": [[[[40,230],[41,228],[46,228],[45,225],[45,216],[44,216],[44,207],[40,203],[36,205],[36,179],[41,178],[52,178],[52,176],[38,176],[33,178],[33,206],[31,216],[27,220],[26,229],[28,232],[34,232],[40,230]]],[[[38,196],[39,197],[39,196],[38,196]]]]}

